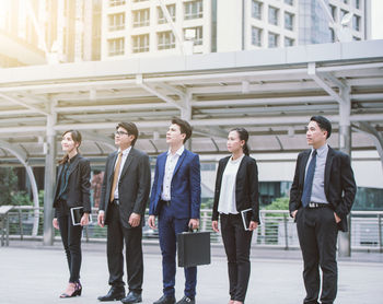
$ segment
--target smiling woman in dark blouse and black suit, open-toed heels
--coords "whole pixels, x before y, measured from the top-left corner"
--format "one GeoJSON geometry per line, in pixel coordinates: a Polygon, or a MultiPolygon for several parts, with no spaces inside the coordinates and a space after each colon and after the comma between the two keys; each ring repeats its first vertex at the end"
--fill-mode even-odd
{"type": "Polygon", "coordinates": [[[69,266],[69,284],[60,297],[81,295],[81,233],[82,226],[88,225],[91,213],[89,160],[81,156],[79,147],[81,133],[69,130],[62,135],[61,147],[65,155],[59,162],[57,183],[55,188],[54,227],[60,230],[63,248],[69,266]],[[73,225],[70,209],[83,207],[80,225],[73,225]]]}

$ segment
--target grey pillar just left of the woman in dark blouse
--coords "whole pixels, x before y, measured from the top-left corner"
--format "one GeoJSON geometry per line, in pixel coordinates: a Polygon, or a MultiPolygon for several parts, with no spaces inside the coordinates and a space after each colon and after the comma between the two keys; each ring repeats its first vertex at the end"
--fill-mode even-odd
{"type": "Polygon", "coordinates": [[[54,245],[54,187],[56,183],[56,124],[55,115],[47,116],[47,133],[45,142],[45,174],[44,174],[44,245],[54,245]]]}

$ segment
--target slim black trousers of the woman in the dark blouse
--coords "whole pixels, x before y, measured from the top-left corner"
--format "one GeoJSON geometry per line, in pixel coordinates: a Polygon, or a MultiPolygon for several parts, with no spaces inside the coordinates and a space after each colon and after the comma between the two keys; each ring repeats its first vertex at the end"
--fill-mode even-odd
{"type": "Polygon", "coordinates": [[[61,241],[68,260],[70,272],[69,282],[74,283],[80,280],[82,226],[73,226],[71,217],[68,212],[58,212],[57,221],[60,227],[61,241]]]}

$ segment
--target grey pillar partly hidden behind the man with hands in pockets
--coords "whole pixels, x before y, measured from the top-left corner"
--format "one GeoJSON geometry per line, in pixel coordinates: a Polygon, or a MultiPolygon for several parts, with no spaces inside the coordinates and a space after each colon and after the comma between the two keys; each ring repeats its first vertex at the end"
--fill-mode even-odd
{"type": "MultiPolygon", "coordinates": [[[[351,102],[350,90],[345,87],[340,90],[344,102],[339,104],[339,150],[347,153],[351,157],[351,102]]],[[[350,217],[348,215],[348,232],[339,232],[338,254],[340,257],[351,256],[351,234],[350,234],[350,217]]]]}

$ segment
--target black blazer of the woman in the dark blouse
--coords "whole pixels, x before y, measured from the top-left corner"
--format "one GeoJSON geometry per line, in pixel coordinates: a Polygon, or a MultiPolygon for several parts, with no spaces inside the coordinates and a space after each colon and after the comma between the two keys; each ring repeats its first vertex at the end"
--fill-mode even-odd
{"type": "MultiPolygon", "coordinates": [[[[59,165],[57,171],[54,207],[58,207],[59,195],[59,178],[61,175],[63,165],[59,165]]],[[[83,157],[81,154],[77,154],[73,163],[71,164],[68,177],[68,208],[83,207],[84,212],[91,213],[91,165],[90,161],[83,157]]],[[[56,213],[55,213],[56,214],[56,213]]],[[[55,215],[56,217],[56,215],[55,215]]]]}

